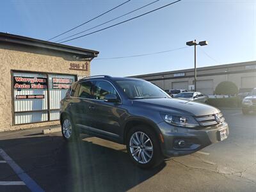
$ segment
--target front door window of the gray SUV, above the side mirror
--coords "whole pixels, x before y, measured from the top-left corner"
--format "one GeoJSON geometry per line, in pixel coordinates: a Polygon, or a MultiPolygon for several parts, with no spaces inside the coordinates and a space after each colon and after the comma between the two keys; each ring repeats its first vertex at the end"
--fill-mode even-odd
{"type": "Polygon", "coordinates": [[[116,95],[117,98],[120,98],[116,93],[115,88],[108,81],[96,81],[95,83],[95,97],[99,100],[104,100],[104,97],[108,94],[116,95]]]}

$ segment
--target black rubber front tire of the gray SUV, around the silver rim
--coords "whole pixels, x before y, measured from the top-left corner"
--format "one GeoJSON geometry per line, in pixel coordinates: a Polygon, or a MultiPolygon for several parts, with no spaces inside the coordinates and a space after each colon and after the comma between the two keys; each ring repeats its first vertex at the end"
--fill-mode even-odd
{"type": "Polygon", "coordinates": [[[152,168],[152,167],[158,166],[159,164],[163,163],[164,158],[163,158],[163,154],[161,152],[161,147],[160,147],[159,142],[160,141],[159,141],[156,133],[154,131],[152,131],[150,128],[148,128],[147,126],[137,125],[135,127],[132,127],[129,130],[129,132],[127,133],[127,137],[126,137],[126,148],[127,148],[127,152],[129,154],[129,157],[131,158],[132,162],[143,169],[152,168]],[[136,160],[132,156],[132,152],[130,149],[130,140],[131,140],[132,135],[134,135],[135,132],[143,132],[144,134],[146,134],[145,136],[147,136],[150,139],[150,141],[153,145],[152,157],[151,157],[150,161],[148,161],[148,163],[140,163],[140,162],[138,162],[138,160],[136,160]]]}

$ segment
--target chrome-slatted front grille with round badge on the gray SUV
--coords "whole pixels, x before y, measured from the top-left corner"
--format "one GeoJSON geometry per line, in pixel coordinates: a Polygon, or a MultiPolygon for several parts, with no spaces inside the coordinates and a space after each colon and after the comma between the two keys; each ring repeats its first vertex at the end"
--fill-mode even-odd
{"type": "Polygon", "coordinates": [[[213,115],[196,116],[196,121],[202,126],[217,125],[225,121],[222,113],[216,113],[213,115]]]}

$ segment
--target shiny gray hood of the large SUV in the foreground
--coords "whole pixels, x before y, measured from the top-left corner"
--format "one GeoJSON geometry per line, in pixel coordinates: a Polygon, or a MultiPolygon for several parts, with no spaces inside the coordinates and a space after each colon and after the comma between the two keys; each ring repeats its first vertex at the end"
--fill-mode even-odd
{"type": "Polygon", "coordinates": [[[182,115],[204,116],[219,113],[220,110],[198,102],[181,99],[136,99],[133,100],[135,106],[140,106],[149,110],[157,110],[160,113],[175,113],[182,115]]]}

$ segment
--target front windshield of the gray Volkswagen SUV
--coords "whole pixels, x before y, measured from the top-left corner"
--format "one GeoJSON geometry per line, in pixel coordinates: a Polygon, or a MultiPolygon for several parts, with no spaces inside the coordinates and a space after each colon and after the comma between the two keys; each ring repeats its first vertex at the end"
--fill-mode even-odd
{"type": "Polygon", "coordinates": [[[116,83],[120,86],[120,88],[122,88],[122,90],[124,90],[124,93],[130,99],[154,99],[168,97],[168,95],[164,93],[161,88],[148,81],[124,80],[116,81],[116,83]]]}

